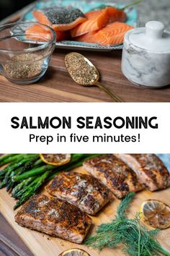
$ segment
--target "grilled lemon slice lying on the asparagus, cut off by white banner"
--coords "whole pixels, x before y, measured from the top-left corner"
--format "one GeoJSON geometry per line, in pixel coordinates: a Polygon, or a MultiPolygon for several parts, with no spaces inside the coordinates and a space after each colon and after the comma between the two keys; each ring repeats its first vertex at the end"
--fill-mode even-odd
{"type": "Polygon", "coordinates": [[[40,154],[40,158],[52,166],[63,166],[71,160],[71,154],[40,154]]]}

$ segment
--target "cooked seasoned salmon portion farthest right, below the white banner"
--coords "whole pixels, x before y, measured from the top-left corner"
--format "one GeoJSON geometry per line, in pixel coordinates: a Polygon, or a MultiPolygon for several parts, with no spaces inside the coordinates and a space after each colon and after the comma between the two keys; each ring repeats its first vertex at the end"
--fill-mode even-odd
{"type": "Polygon", "coordinates": [[[154,154],[116,154],[135,171],[140,183],[155,191],[165,189],[169,182],[169,171],[154,154]]]}

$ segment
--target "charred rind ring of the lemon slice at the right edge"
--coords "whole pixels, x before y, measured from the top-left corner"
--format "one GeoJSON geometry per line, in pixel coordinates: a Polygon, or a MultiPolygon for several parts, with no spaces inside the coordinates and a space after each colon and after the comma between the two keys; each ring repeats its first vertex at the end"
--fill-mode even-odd
{"type": "Polygon", "coordinates": [[[140,216],[141,216],[141,217],[140,217],[140,218],[141,218],[141,221],[143,221],[144,223],[146,223],[148,226],[150,226],[150,227],[153,228],[153,229],[168,229],[168,228],[170,227],[170,221],[169,221],[169,223],[167,223],[166,225],[162,225],[162,226],[160,226],[160,227],[155,227],[155,226],[152,226],[152,225],[149,223],[148,218],[144,215],[144,213],[143,213],[143,206],[146,205],[148,202],[152,202],[152,201],[159,202],[159,203],[161,203],[161,204],[163,204],[163,205],[166,205],[166,207],[168,207],[169,210],[170,210],[170,206],[167,205],[165,202],[162,202],[161,200],[157,200],[157,199],[148,199],[148,200],[144,201],[144,202],[142,203],[142,205],[140,206],[139,213],[140,213],[140,216]]]}

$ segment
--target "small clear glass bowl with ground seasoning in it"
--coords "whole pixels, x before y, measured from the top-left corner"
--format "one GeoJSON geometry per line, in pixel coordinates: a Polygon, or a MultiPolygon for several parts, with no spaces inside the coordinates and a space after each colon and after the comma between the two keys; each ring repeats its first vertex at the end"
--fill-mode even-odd
{"type": "Polygon", "coordinates": [[[53,28],[36,22],[0,26],[0,73],[11,82],[28,85],[40,80],[55,49],[53,28]]]}

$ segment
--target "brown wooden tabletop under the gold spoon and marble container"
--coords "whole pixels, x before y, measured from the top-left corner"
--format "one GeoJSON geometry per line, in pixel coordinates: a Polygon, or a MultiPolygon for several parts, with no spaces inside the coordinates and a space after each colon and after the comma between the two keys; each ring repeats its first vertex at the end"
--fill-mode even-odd
{"type": "MultiPolygon", "coordinates": [[[[68,50],[56,49],[45,76],[34,85],[14,85],[0,75],[1,102],[111,102],[99,88],[82,87],[71,80],[64,64],[68,50]]],[[[151,90],[135,87],[121,72],[122,51],[79,51],[101,74],[104,85],[125,102],[169,102],[170,86],[151,90]]]]}

